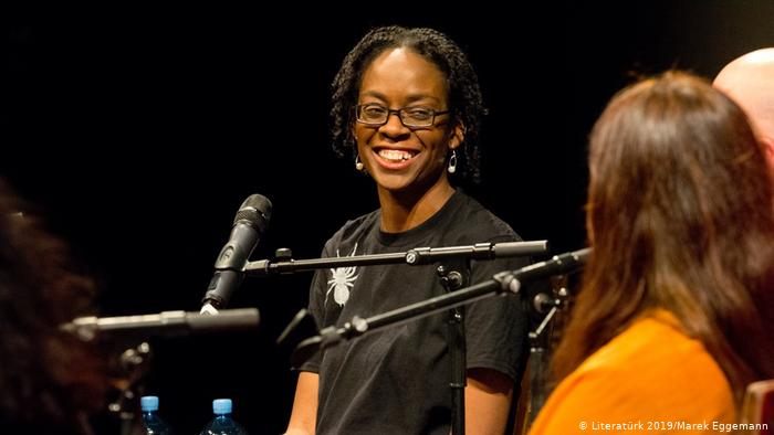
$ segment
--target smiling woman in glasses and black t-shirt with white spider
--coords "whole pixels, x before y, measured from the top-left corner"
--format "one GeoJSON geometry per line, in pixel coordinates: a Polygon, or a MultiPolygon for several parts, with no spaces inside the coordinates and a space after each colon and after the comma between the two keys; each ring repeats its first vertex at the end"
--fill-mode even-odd
{"type": "MultiPolygon", "coordinates": [[[[347,222],[323,256],[417,246],[511,242],[519,236],[450,173],[475,179],[484,114],[467,56],[431,29],[379,28],[349,52],[333,83],[334,150],[376,183],[380,208],[347,222]],[[459,169],[459,171],[458,171],[459,169]]],[[[475,264],[478,283],[524,261],[475,264]]],[[[466,272],[466,264],[449,264],[466,272]]],[[[310,310],[320,327],[442,294],[436,265],[331,269],[315,275],[310,310]]],[[[503,433],[524,357],[526,317],[515,298],[466,307],[466,424],[503,433]]],[[[303,367],[289,434],[449,434],[452,394],[446,317],[375,332],[303,367]]]]}

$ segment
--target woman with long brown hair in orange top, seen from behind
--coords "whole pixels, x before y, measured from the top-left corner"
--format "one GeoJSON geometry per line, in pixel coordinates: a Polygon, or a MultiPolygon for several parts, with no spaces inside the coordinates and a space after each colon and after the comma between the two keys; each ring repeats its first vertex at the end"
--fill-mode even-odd
{"type": "Polygon", "coordinates": [[[728,429],[745,385],[774,376],[764,153],[744,112],[693,75],[611,99],[590,136],[594,252],[531,434],[728,429]]]}

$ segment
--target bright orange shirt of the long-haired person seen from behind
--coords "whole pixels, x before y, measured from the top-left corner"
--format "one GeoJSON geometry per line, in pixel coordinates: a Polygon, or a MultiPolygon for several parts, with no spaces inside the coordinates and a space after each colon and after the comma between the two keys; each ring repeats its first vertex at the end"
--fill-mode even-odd
{"type": "Polygon", "coordinates": [[[565,378],[530,435],[719,433],[734,418],[733,394],[720,367],[700,341],[681,331],[674,316],[658,310],[565,378]]]}

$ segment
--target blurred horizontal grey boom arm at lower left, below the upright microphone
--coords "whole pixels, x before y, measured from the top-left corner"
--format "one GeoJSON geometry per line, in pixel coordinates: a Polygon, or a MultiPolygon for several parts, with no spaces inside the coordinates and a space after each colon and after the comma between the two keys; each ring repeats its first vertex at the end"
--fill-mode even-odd
{"type": "Polygon", "coordinates": [[[60,326],[60,330],[91,341],[100,333],[180,336],[254,329],[260,322],[257,308],[224,309],[218,316],[186,311],[118,317],[79,317],[60,326]]]}

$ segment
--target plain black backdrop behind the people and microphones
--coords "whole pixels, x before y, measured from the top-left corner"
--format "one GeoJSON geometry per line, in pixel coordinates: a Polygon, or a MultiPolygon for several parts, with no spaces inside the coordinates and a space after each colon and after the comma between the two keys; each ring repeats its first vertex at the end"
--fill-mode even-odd
{"type": "MultiPolygon", "coordinates": [[[[377,206],[373,183],[330,149],[327,116],[330,83],[373,25],[433,26],[468,52],[491,110],[484,179],[469,191],[553,253],[584,245],[586,135],[616,91],[669,67],[711,78],[774,45],[764,0],[381,6],[348,18],[301,6],[14,15],[1,173],[98,278],[101,315],[198,310],[251,193],[274,204],[253,259],[279,247],[316,257],[377,206]]],[[[260,308],[258,331],[151,341],[146,391],[179,434],[199,431],[219,396],[251,433],[284,429],[295,378],[273,342],[310,278],[242,285],[231,307],[260,308]]]]}

